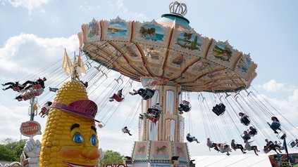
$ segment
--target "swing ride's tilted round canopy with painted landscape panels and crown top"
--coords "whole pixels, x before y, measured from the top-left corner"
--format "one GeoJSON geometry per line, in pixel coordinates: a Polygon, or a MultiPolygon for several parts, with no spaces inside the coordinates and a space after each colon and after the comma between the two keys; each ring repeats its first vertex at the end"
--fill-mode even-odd
{"type": "Polygon", "coordinates": [[[141,81],[172,81],[182,91],[230,92],[247,88],[256,77],[249,54],[228,41],[201,36],[184,18],[185,4],[151,22],[92,20],[78,34],[81,50],[92,60],[141,81]]]}

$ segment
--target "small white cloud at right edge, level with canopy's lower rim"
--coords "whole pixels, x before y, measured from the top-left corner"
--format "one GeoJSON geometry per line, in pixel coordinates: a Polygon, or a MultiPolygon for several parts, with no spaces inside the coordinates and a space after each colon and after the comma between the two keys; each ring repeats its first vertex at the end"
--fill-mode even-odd
{"type": "Polygon", "coordinates": [[[256,88],[262,88],[268,92],[277,92],[277,91],[293,91],[294,86],[289,86],[287,83],[278,83],[274,79],[271,79],[263,85],[257,85],[256,88]]]}

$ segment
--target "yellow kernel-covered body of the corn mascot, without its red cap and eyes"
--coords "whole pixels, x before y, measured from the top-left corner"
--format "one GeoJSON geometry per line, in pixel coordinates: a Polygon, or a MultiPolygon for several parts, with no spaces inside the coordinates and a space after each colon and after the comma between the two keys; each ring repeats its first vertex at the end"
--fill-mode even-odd
{"type": "MultiPolygon", "coordinates": [[[[77,100],[87,100],[87,92],[79,81],[68,81],[59,88],[54,102],[60,102],[69,105],[77,100]]],[[[93,120],[82,118],[75,114],[63,112],[60,109],[51,108],[46,127],[42,137],[42,151],[39,156],[39,166],[44,167],[63,167],[68,163],[76,165],[97,166],[99,163],[98,138],[97,133],[90,127],[95,126],[93,120]],[[80,125],[79,133],[84,138],[84,143],[78,144],[73,141],[73,133],[70,127],[77,123],[80,125]],[[97,145],[90,145],[92,134],[96,136],[97,145]],[[89,152],[86,150],[97,150],[89,152]]]]}

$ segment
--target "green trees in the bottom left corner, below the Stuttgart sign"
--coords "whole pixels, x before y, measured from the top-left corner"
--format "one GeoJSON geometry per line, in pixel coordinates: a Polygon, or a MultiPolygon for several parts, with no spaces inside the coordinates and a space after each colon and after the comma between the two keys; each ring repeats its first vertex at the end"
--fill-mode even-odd
{"type": "Polygon", "coordinates": [[[0,144],[1,161],[20,161],[20,154],[23,152],[27,140],[14,141],[6,138],[0,144]]]}

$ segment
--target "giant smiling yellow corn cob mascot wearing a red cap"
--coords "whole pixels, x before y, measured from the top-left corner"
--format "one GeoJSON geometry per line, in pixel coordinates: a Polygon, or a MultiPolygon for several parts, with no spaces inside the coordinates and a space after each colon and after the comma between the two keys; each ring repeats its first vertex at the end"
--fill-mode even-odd
{"type": "Polygon", "coordinates": [[[97,166],[100,155],[95,114],[97,105],[88,100],[80,81],[64,83],[46,120],[39,165],[97,166]]]}

